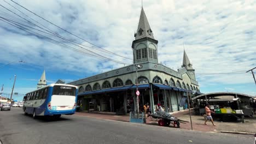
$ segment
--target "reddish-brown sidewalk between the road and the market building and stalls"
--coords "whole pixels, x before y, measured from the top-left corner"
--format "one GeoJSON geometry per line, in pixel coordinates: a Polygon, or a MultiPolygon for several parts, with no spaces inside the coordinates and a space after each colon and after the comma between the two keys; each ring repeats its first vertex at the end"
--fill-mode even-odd
{"type": "MultiPolygon", "coordinates": [[[[192,110],[191,113],[194,111],[192,110]]],[[[100,118],[100,119],[111,119],[114,121],[123,121],[129,122],[130,117],[129,114],[125,116],[117,116],[117,115],[110,115],[110,114],[102,114],[102,113],[88,113],[88,112],[76,112],[75,115],[78,116],[86,116],[91,118],[100,118]]],[[[188,121],[189,123],[181,123],[181,129],[191,129],[190,125],[190,117],[189,111],[183,111],[179,113],[173,113],[174,117],[177,117],[181,120],[188,121]]],[[[204,124],[205,119],[203,116],[196,116],[191,114],[191,119],[193,123],[193,130],[197,131],[240,131],[240,132],[248,132],[248,133],[256,133],[256,116],[253,118],[245,118],[245,123],[240,122],[218,122],[214,121],[217,125],[214,127],[211,122],[207,122],[207,125],[204,124]]],[[[158,125],[158,121],[151,121],[150,118],[146,119],[146,124],[150,125],[158,125]]],[[[171,124],[170,127],[173,127],[171,124]]]]}

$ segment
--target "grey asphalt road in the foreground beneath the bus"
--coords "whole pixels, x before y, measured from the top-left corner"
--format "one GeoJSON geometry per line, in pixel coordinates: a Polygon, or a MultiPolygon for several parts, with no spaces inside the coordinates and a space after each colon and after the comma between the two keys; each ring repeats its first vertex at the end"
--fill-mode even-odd
{"type": "Polygon", "coordinates": [[[201,133],[154,125],[62,116],[58,121],[33,119],[20,108],[0,111],[0,139],[15,143],[253,143],[254,137],[201,133]]]}

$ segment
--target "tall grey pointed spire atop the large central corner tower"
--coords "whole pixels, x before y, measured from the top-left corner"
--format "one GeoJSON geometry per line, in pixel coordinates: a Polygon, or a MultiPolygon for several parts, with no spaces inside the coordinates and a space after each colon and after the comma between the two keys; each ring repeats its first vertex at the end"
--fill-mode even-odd
{"type": "Polygon", "coordinates": [[[149,26],[147,16],[142,7],[141,8],[141,16],[139,16],[137,33],[135,34],[135,40],[146,38],[146,37],[155,39],[152,29],[149,26]]]}

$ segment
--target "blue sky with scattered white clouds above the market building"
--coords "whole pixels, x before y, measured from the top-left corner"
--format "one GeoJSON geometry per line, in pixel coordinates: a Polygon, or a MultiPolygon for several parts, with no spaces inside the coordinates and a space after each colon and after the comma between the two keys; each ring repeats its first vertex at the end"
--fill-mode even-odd
{"type": "MultiPolygon", "coordinates": [[[[13,98],[21,100],[23,94],[36,89],[43,70],[49,84],[58,79],[71,82],[132,63],[131,44],[141,1],[13,0],[70,33],[10,0],[0,1],[0,85],[4,84],[5,97],[11,93],[14,75],[18,95],[13,98]],[[30,30],[40,29],[31,22],[36,23],[76,45],[71,47],[63,39],[58,40],[69,47],[50,43],[48,38],[57,38],[34,29],[44,37],[31,34],[10,21],[30,26],[30,30]],[[101,59],[92,56],[95,53],[101,59]]],[[[181,68],[185,49],[202,93],[256,95],[252,73],[246,73],[256,67],[255,1],[144,0],[143,9],[159,41],[159,63],[174,70],[181,68]]]]}

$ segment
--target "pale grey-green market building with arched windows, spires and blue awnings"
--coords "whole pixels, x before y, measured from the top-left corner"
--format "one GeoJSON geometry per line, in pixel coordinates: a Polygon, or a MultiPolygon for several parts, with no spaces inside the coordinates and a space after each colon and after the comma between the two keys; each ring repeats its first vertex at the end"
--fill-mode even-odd
{"type": "Polygon", "coordinates": [[[141,111],[146,103],[152,112],[157,104],[166,112],[180,111],[184,109],[187,93],[189,97],[200,93],[195,69],[185,50],[182,68],[178,70],[158,62],[158,40],[154,38],[143,8],[134,37],[133,64],[68,83],[78,86],[78,101],[82,101],[83,110],[137,111],[136,76],[141,111]]]}

